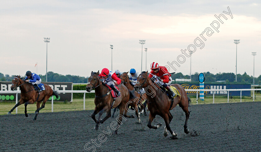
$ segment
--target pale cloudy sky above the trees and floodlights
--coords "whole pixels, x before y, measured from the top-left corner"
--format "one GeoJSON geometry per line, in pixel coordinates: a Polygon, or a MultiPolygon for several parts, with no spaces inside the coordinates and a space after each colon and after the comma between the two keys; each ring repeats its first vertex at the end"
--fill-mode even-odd
{"type": "Polygon", "coordinates": [[[45,75],[47,54],[47,71],[62,75],[89,77],[105,67],[141,72],[157,62],[183,75],[191,63],[191,74],[258,77],[260,10],[258,0],[0,1],[0,72],[45,75]]]}

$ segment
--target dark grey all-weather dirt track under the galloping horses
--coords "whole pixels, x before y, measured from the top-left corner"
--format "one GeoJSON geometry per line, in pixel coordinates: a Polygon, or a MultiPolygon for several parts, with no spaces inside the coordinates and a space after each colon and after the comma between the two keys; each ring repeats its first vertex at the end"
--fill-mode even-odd
{"type": "Polygon", "coordinates": [[[184,133],[182,109],[171,111],[175,140],[169,132],[163,137],[165,124],[159,116],[152,123],[163,124],[157,130],[149,129],[148,116],[141,115],[141,124],[136,118],[123,119],[115,135],[110,126],[115,118],[93,130],[93,111],[40,111],[36,121],[34,114],[1,115],[0,151],[261,151],[261,102],[191,105],[189,111],[189,134],[184,133]]]}

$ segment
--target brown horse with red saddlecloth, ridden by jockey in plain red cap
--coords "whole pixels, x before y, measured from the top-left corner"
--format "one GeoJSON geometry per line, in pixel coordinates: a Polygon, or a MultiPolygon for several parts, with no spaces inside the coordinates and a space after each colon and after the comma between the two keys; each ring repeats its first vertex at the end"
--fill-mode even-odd
{"type": "MultiPolygon", "coordinates": [[[[110,90],[108,90],[108,87],[102,83],[102,81],[99,78],[99,71],[98,72],[91,72],[91,76],[89,77],[89,82],[86,85],[86,91],[90,92],[92,89],[95,88],[95,98],[94,98],[94,112],[92,114],[92,119],[94,119],[96,125],[94,127],[94,130],[99,129],[99,125],[103,124],[103,122],[111,117],[111,109],[120,106],[120,115],[118,118],[118,127],[115,130],[115,134],[117,134],[118,128],[120,126],[121,120],[123,118],[122,115],[128,118],[134,118],[134,115],[128,116],[126,109],[126,104],[129,100],[129,98],[135,98],[135,96],[126,88],[126,86],[119,84],[117,87],[119,88],[119,91],[121,92],[121,96],[117,97],[115,99],[115,102],[113,104],[112,96],[110,95],[110,90]],[[112,105],[113,104],[113,105],[112,105]],[[103,119],[100,119],[102,114],[106,112],[106,116],[103,119]],[[123,114],[124,112],[124,114],[123,114]],[[99,113],[98,119],[96,120],[95,115],[99,113]]],[[[125,118],[123,118],[125,119],[125,118]]],[[[126,120],[126,119],[125,119],[126,120]]]]}

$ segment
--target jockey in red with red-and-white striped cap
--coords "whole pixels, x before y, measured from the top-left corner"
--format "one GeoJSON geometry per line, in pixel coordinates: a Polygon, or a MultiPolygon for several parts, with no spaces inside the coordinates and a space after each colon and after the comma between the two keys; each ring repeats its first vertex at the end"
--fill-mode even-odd
{"type": "Polygon", "coordinates": [[[160,77],[160,80],[157,80],[156,83],[160,84],[168,91],[172,92],[172,98],[175,96],[175,93],[170,89],[169,85],[172,82],[171,74],[169,74],[168,70],[164,66],[158,66],[158,63],[153,62],[150,65],[151,72],[149,73],[149,77],[152,78],[154,75],[160,77]]]}

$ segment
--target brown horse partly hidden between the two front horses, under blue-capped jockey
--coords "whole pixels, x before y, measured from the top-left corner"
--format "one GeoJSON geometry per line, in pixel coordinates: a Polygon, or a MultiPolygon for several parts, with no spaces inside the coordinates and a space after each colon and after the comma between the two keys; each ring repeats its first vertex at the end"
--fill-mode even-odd
{"type": "MultiPolygon", "coordinates": [[[[129,90],[134,90],[134,87],[129,82],[128,72],[123,72],[121,74],[121,83],[124,84],[129,90]]],[[[134,95],[138,98],[131,100],[131,103],[129,104],[129,106],[132,106],[135,108],[135,114],[138,118],[138,121],[140,122],[140,112],[144,109],[144,105],[142,104],[142,102],[147,99],[147,95],[146,95],[146,93],[141,95],[138,92],[135,92],[134,95]],[[139,112],[138,112],[138,106],[141,107],[139,112]]],[[[144,115],[147,115],[146,111],[144,111],[144,115]]]]}

